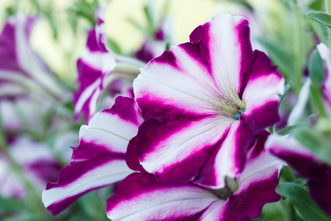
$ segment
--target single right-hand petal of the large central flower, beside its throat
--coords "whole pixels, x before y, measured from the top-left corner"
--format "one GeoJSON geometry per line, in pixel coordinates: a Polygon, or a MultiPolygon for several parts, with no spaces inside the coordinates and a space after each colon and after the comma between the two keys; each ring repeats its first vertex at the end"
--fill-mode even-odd
{"type": "Polygon", "coordinates": [[[246,104],[242,117],[247,128],[263,129],[279,121],[279,95],[284,94],[284,78],[261,51],[254,51],[252,74],[243,92],[246,104]]]}

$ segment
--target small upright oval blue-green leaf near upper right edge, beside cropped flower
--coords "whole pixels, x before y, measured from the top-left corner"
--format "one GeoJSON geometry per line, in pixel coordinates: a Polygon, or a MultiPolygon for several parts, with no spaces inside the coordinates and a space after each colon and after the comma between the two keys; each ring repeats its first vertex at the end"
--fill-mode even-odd
{"type": "Polygon", "coordinates": [[[317,49],[314,49],[310,55],[308,70],[312,85],[319,88],[324,79],[324,69],[317,49]]]}

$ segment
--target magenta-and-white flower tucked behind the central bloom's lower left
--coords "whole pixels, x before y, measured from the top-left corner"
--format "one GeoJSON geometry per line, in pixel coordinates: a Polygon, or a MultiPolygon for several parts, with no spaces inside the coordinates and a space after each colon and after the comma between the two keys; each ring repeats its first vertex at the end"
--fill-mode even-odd
{"type": "Polygon", "coordinates": [[[99,111],[88,126],[82,125],[70,165],[42,193],[44,206],[56,215],[81,195],[134,172],[125,163],[125,153],[141,122],[134,100],[118,97],[111,109],[99,111]]]}

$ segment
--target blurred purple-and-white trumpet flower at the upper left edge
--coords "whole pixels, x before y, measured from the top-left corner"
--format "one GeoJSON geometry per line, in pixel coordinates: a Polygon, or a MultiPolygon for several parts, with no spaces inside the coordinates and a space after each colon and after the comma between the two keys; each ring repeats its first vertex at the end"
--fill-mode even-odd
{"type": "Polygon", "coordinates": [[[61,88],[30,45],[37,17],[19,12],[8,18],[0,35],[0,97],[26,94],[27,90],[62,99],[61,88]]]}

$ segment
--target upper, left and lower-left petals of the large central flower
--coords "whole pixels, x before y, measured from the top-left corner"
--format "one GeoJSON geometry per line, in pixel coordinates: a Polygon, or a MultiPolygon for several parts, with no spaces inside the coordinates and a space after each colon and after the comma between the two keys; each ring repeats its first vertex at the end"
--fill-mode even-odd
{"type": "Polygon", "coordinates": [[[187,183],[212,163],[232,125],[219,119],[215,104],[238,96],[253,58],[248,21],[240,16],[219,14],[196,28],[190,41],[153,59],[133,83],[143,117],[163,121],[142,124],[137,153],[144,169],[164,183],[187,183]],[[162,173],[173,176],[163,180],[162,173]]]}

